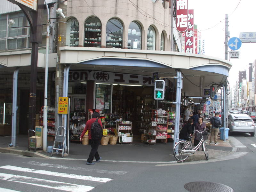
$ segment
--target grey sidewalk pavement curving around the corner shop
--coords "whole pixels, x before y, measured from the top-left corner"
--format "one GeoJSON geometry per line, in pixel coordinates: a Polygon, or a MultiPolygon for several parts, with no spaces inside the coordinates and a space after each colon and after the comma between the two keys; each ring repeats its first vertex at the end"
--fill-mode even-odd
{"type": "MultiPolygon", "coordinates": [[[[210,137],[210,136],[209,136],[210,137]]],[[[24,156],[41,157],[41,158],[59,158],[59,159],[76,159],[87,160],[90,153],[90,145],[82,145],[80,142],[69,143],[69,154],[61,158],[61,154],[54,153],[51,157],[51,153],[44,152],[42,149],[37,149],[34,152],[32,149],[28,151],[28,136],[17,135],[16,147],[8,147],[11,143],[11,136],[0,137],[0,152],[1,153],[14,153],[24,156]]],[[[218,137],[218,145],[209,145],[208,151],[209,159],[220,158],[223,156],[231,155],[232,146],[230,141],[220,140],[218,137]]],[[[47,141],[47,146],[52,146],[53,141],[47,141]]],[[[102,157],[102,161],[111,162],[137,162],[137,163],[168,163],[175,161],[173,156],[173,141],[165,143],[157,142],[156,145],[141,143],[141,141],[134,138],[132,144],[116,144],[99,146],[98,152],[102,157]]],[[[189,156],[186,161],[205,160],[204,152],[201,150],[196,151],[195,155],[189,156]]]]}

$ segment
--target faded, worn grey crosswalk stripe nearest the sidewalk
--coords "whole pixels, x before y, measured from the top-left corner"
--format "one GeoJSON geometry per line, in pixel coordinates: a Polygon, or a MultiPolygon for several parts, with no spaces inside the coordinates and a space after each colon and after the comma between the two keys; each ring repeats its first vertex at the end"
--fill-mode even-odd
{"type": "Polygon", "coordinates": [[[68,167],[60,164],[49,164],[49,163],[41,163],[36,161],[28,161],[24,163],[27,163],[30,165],[36,165],[36,166],[45,166],[45,167],[54,167],[54,168],[57,167],[60,169],[84,170],[84,171],[90,171],[94,173],[107,173],[107,174],[116,174],[116,175],[124,175],[125,173],[128,173],[127,171],[109,171],[109,170],[101,170],[101,169],[88,169],[84,167],[68,167]]]}

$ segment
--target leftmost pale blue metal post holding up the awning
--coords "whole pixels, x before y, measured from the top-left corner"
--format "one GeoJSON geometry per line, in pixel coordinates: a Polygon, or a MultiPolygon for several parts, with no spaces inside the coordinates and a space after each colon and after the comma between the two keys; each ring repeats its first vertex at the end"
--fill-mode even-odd
{"type": "Polygon", "coordinates": [[[17,87],[18,87],[18,73],[20,68],[16,68],[13,73],[13,88],[12,88],[12,143],[9,147],[16,147],[16,118],[17,118],[17,87]]]}

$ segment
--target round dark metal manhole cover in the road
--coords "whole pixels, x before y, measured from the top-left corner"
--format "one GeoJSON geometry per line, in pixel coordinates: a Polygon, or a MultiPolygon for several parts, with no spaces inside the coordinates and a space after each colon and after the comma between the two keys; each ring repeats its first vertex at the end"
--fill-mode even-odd
{"type": "Polygon", "coordinates": [[[186,183],[184,187],[190,192],[234,192],[234,190],[227,185],[207,181],[186,183]]]}

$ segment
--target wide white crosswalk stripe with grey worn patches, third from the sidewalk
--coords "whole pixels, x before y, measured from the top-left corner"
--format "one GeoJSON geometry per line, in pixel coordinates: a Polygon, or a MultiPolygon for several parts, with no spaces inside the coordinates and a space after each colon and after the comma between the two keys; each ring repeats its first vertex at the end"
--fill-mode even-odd
{"type": "Polygon", "coordinates": [[[59,181],[38,179],[33,177],[12,175],[12,174],[6,174],[6,173],[0,173],[0,179],[29,184],[29,185],[35,185],[35,186],[40,186],[45,188],[53,188],[53,189],[58,189],[63,191],[70,191],[70,192],[87,192],[94,188],[91,186],[76,185],[72,183],[64,183],[59,181]]]}

